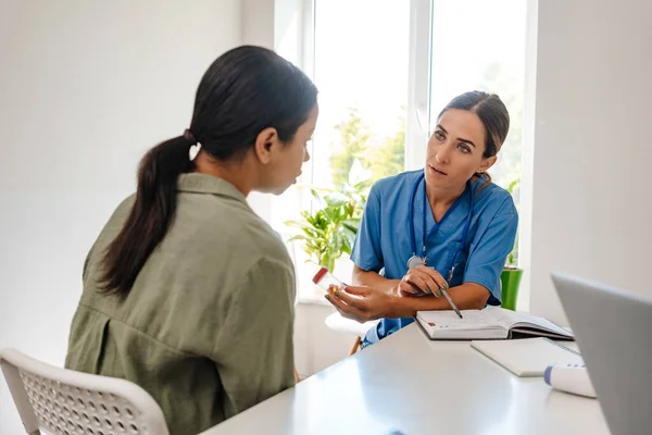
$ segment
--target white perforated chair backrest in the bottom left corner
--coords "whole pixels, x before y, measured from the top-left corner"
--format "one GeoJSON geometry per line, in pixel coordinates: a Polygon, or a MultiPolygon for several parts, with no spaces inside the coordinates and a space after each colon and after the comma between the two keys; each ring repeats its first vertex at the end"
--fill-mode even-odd
{"type": "Polygon", "coordinates": [[[159,405],[134,383],[60,369],[9,348],[0,351],[0,366],[27,434],[168,434],[159,405]]]}

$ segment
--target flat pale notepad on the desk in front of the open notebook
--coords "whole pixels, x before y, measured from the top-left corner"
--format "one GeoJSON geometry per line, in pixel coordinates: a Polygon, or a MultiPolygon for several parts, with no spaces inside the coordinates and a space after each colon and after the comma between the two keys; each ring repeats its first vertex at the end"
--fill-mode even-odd
{"type": "Polygon", "coordinates": [[[547,337],[471,341],[471,347],[522,377],[543,376],[548,365],[584,365],[579,352],[547,337]]]}

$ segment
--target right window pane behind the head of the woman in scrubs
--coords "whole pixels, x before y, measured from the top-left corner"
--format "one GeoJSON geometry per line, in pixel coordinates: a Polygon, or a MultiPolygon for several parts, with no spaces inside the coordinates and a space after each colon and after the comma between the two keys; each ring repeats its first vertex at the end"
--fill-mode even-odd
{"type": "Polygon", "coordinates": [[[510,134],[489,171],[507,188],[521,177],[526,2],[435,0],[430,55],[430,126],[453,97],[467,90],[498,94],[510,134]]]}

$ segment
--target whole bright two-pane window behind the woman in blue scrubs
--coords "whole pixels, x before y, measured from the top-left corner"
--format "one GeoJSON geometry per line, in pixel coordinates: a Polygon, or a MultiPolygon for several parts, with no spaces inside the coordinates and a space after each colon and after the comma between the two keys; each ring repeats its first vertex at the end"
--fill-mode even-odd
{"type": "MultiPolygon", "coordinates": [[[[467,90],[498,94],[507,105],[510,134],[490,173],[505,188],[519,179],[526,3],[303,0],[303,67],[319,89],[319,121],[304,174],[274,199],[272,224],[284,238],[296,234],[287,221],[321,207],[311,188],[325,195],[423,167],[439,111],[467,90]]],[[[300,293],[312,294],[309,256],[288,246],[300,293]]],[[[336,265],[342,279],[347,257],[336,265]]]]}

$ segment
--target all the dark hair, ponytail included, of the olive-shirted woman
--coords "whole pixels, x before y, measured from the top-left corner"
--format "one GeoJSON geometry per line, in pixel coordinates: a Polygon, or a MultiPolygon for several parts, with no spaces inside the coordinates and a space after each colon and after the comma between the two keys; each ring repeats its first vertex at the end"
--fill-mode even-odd
{"type": "Polygon", "coordinates": [[[140,162],[136,202],[102,259],[103,293],[128,295],[165,236],[176,210],[177,178],[195,170],[191,146],[199,142],[212,159],[229,161],[252,149],[267,127],[289,144],[316,102],[311,79],[272,50],[241,46],[217,58],[197,88],[190,130],[152,148],[140,162]]]}

